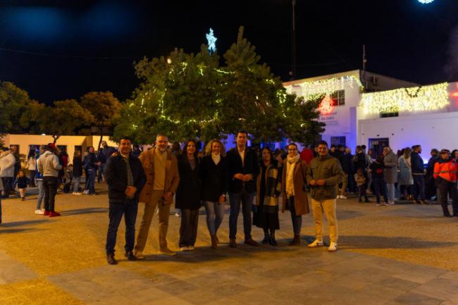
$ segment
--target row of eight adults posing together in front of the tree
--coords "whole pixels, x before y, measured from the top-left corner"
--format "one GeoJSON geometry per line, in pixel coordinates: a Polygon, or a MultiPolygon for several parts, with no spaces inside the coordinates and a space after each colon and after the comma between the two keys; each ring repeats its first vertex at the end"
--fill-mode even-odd
{"type": "Polygon", "coordinates": [[[181,251],[192,251],[197,239],[199,208],[206,210],[206,226],[211,247],[218,248],[218,228],[224,216],[224,204],[230,205],[229,246],[237,247],[237,218],[243,216],[245,244],[259,246],[252,238],[252,224],[264,230],[262,243],[277,245],[275,232],[280,228],[278,212],[290,211],[294,236],[290,245],[300,244],[302,215],[311,209],[316,227],[316,239],[309,247],[323,246],[323,213],[330,231],[328,251],[338,249],[338,221],[335,201],[344,172],[337,158],[328,154],[324,141],[317,146],[318,156],[307,165],[299,156],[298,147],[287,145],[284,160],[273,157],[264,148],[259,160],[256,150],[247,147],[247,132],[236,135],[236,147],[225,151],[219,139],[206,145],[204,156],[198,156],[197,142],[187,141],[182,154],[175,156],[168,149],[168,137],[158,135],[153,148],[138,158],[130,154],[132,143],[120,139],[118,153],[113,154],[104,168],[109,187],[109,228],[106,255],[109,264],[116,264],[115,244],[120,220],[125,218],[125,256],[129,260],[143,259],[151,220],[159,214],[159,254],[175,254],[166,239],[168,218],[175,195],[181,210],[181,251]],[[309,189],[309,191],[308,191],[309,189]],[[142,223],[135,243],[135,220],[138,202],[144,203],[142,223]],[[254,211],[254,212],[253,212],[254,211]],[[252,216],[252,213],[254,215],[252,216]]]}

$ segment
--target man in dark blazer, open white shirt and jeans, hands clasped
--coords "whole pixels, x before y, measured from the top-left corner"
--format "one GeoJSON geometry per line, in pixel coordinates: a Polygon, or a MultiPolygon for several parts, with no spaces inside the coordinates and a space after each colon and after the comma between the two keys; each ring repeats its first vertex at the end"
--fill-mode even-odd
{"type": "Polygon", "coordinates": [[[237,132],[237,147],[230,149],[227,154],[229,178],[229,246],[237,247],[237,218],[242,205],[243,229],[245,244],[259,246],[252,239],[252,204],[256,194],[256,176],[259,175],[259,161],[256,151],[247,147],[248,134],[237,132]]]}

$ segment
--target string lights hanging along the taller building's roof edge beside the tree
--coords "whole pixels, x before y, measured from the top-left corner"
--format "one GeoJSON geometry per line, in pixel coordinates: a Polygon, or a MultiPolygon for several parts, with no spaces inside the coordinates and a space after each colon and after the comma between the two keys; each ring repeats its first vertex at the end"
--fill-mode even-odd
{"type": "MultiPolygon", "coordinates": [[[[315,82],[302,82],[297,84],[301,87],[300,95],[304,100],[316,99],[323,94],[332,94],[333,92],[345,89],[345,85],[354,88],[362,87],[361,81],[354,76],[334,77],[328,80],[316,80],[315,82]]],[[[292,92],[292,86],[285,87],[288,93],[292,92]]],[[[299,94],[298,94],[299,95],[299,94]]]]}

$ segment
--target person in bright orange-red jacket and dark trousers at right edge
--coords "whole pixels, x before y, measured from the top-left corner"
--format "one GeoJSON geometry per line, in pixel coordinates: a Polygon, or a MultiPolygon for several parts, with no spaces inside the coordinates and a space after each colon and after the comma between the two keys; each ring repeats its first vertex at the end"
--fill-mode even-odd
{"type": "Polygon", "coordinates": [[[433,175],[439,188],[444,217],[452,217],[447,206],[449,194],[452,198],[453,216],[458,217],[457,162],[450,156],[448,149],[440,151],[440,157],[434,165],[433,175]]]}

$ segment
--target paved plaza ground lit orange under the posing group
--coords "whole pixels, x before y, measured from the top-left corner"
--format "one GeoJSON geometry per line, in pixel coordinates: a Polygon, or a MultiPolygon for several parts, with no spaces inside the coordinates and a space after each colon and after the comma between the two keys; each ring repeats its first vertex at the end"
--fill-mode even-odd
{"type": "MultiPolygon", "coordinates": [[[[301,246],[288,247],[289,213],[280,213],[278,247],[232,249],[226,213],[217,250],[209,247],[201,215],[195,251],[157,255],[154,218],[146,258],[131,262],[123,258],[121,223],[119,264],[109,266],[107,195],[103,184],[97,187],[94,197],[58,194],[58,218],[34,214],[36,195],[2,200],[1,305],[458,304],[458,218],[441,217],[438,205],[339,200],[335,253],[306,247],[314,235],[311,215],[303,220],[301,246]]],[[[137,228],[142,210],[140,204],[137,228]]],[[[168,241],[174,250],[179,223],[171,216],[168,241]]],[[[242,232],[240,216],[239,243],[242,232]]],[[[253,228],[253,236],[261,240],[261,230],[253,228]]]]}

